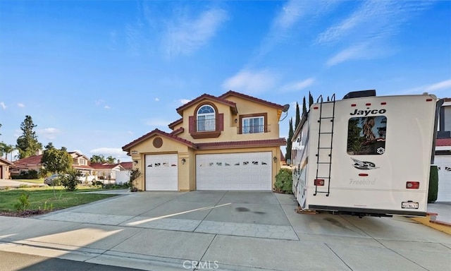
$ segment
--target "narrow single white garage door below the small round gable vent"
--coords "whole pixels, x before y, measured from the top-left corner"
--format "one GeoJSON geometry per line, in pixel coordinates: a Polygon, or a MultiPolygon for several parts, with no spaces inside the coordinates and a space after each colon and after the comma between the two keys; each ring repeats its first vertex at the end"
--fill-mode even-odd
{"type": "Polygon", "coordinates": [[[146,190],[178,191],[177,155],[146,155],[146,190]]]}

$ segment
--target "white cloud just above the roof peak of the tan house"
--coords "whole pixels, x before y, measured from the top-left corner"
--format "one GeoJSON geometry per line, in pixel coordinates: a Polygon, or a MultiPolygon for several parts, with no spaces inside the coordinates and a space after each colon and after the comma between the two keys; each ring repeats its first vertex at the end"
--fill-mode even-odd
{"type": "Polygon", "coordinates": [[[245,92],[255,94],[265,92],[274,88],[278,80],[278,75],[269,70],[263,71],[247,71],[242,70],[235,76],[226,79],[222,87],[225,90],[235,90],[237,92],[245,92]]]}

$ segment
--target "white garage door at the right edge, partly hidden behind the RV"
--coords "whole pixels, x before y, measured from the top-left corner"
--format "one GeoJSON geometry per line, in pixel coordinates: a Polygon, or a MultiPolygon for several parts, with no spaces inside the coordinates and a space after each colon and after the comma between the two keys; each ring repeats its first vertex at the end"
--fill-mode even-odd
{"type": "Polygon", "coordinates": [[[437,201],[451,201],[451,155],[435,155],[438,170],[437,201]]]}

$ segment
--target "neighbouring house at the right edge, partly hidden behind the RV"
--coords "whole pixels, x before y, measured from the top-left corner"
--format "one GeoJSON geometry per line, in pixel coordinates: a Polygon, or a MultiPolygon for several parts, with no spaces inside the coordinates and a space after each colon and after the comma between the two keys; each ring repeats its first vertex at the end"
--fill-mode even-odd
{"type": "Polygon", "coordinates": [[[437,201],[451,202],[451,98],[445,98],[440,109],[434,164],[438,167],[437,201]]]}

